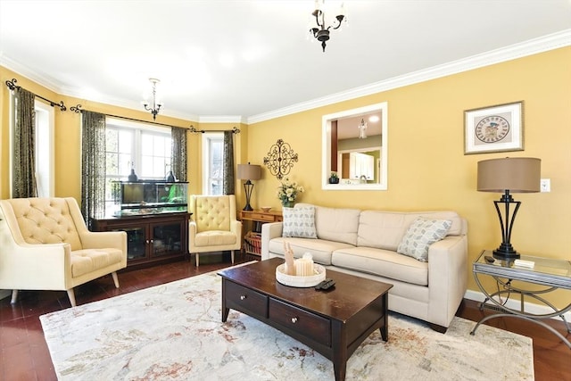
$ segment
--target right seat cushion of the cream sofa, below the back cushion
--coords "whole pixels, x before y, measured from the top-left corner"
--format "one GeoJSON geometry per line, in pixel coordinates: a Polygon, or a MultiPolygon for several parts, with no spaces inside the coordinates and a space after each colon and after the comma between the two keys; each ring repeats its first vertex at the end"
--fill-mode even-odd
{"type": "Polygon", "coordinates": [[[343,269],[398,279],[419,286],[428,285],[428,263],[391,250],[368,247],[340,249],[333,253],[331,262],[335,267],[343,269]]]}

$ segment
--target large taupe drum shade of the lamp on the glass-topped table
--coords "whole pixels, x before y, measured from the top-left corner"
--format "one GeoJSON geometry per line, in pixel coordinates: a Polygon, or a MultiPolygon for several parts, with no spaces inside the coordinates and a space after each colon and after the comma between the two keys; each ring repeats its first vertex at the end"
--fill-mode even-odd
{"type": "Polygon", "coordinates": [[[540,191],[541,159],[506,157],[478,162],[480,192],[533,193],[540,191]]]}

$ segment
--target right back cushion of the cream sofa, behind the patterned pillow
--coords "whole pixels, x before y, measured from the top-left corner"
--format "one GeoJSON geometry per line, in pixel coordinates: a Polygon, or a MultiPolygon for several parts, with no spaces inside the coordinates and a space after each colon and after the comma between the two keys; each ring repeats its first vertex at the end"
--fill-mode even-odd
{"type": "Polygon", "coordinates": [[[462,219],[455,211],[361,211],[357,245],[396,252],[404,233],[418,217],[451,220],[448,236],[466,233],[462,219]]]}

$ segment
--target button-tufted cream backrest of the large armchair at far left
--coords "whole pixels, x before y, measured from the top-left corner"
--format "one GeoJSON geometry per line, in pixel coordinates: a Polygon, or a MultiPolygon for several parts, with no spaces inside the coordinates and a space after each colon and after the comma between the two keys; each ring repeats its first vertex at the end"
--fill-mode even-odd
{"type": "Polygon", "coordinates": [[[26,243],[70,244],[71,251],[82,249],[76,228],[78,221],[71,216],[66,199],[14,198],[5,202],[12,206],[26,243]]]}

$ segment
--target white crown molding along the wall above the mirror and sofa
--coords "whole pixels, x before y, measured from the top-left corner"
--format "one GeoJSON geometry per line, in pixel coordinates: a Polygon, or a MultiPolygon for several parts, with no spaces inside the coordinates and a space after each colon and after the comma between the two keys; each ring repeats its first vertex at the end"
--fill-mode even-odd
{"type": "Polygon", "coordinates": [[[318,107],[348,101],[360,96],[373,95],[398,87],[414,85],[431,79],[438,79],[463,71],[475,70],[496,63],[507,62],[533,54],[540,54],[560,47],[571,46],[571,29],[565,29],[547,36],[527,40],[510,46],[504,46],[484,54],[476,54],[458,61],[447,62],[431,68],[413,71],[393,79],[386,79],[362,87],[323,96],[301,104],[293,104],[272,112],[253,115],[247,119],[248,124],[271,120],[296,112],[304,112],[318,107]]]}

